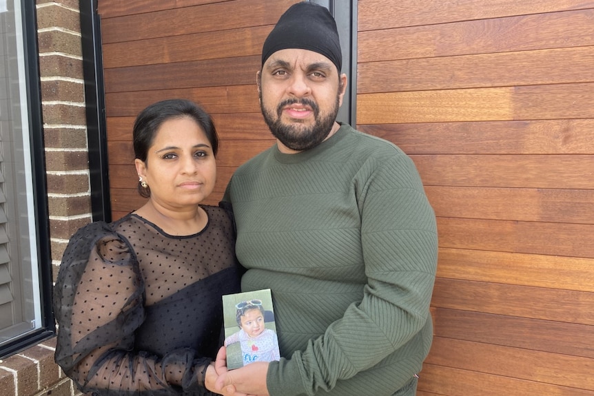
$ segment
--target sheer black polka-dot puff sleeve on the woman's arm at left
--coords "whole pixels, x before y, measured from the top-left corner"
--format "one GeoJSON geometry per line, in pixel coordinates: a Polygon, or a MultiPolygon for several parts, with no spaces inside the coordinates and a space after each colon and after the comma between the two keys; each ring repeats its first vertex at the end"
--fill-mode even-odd
{"type": "Polygon", "coordinates": [[[54,286],[56,362],[85,392],[206,394],[209,359],[184,348],[162,357],[134,348],[145,318],[143,278],[127,240],[95,222],[72,236],[54,286]]]}

